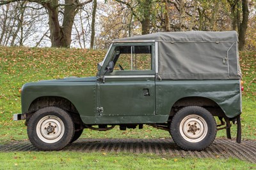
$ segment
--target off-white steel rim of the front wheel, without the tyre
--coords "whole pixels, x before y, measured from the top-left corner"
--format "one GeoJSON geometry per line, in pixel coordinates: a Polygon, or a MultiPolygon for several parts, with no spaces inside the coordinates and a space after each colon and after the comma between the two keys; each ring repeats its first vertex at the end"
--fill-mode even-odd
{"type": "Polygon", "coordinates": [[[59,117],[49,115],[39,120],[36,125],[36,134],[45,143],[59,141],[65,132],[65,126],[59,117]]]}

